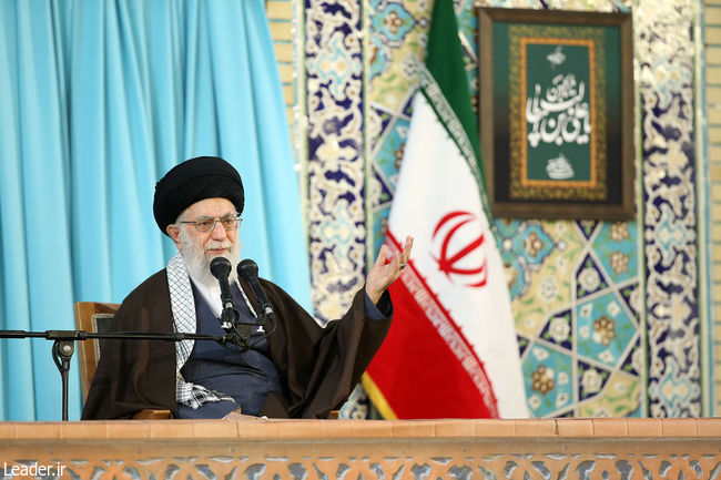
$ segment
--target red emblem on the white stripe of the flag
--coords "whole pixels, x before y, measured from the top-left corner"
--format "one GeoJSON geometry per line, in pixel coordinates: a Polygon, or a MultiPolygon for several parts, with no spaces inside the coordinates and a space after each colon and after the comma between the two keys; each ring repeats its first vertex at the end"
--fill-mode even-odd
{"type": "Polygon", "coordinates": [[[470,277],[466,278],[470,283],[464,283],[468,287],[486,285],[486,236],[476,215],[461,211],[445,215],[433,232],[433,241],[438,256],[431,256],[450,283],[460,276],[470,277]]]}

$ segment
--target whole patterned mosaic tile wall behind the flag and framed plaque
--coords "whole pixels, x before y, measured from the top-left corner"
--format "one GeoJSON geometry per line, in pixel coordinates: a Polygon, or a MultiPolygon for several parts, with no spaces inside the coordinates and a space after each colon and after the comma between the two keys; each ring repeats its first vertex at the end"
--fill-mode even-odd
{"type": "MultiPolygon", "coordinates": [[[[483,3],[624,8],[605,0],[483,3]]],[[[475,96],[476,10],[471,0],[454,4],[475,96]]],[[[347,307],[366,256],[385,236],[431,7],[306,0],[308,223],[322,318],[347,307]]],[[[701,412],[692,9],[681,0],[641,0],[634,9],[640,222],[495,221],[536,417],[701,412]]],[[[373,417],[366,402],[356,389],[342,416],[373,417]]]]}

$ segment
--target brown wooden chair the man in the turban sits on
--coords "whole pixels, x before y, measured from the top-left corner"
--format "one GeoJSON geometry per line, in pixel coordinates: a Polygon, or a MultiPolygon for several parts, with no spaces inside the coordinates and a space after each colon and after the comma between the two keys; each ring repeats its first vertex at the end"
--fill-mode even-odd
{"type": "MultiPolygon", "coordinates": [[[[75,327],[80,330],[93,333],[115,331],[112,319],[119,304],[102,304],[99,302],[78,302],[74,305],[75,327]]],[[[88,391],[95,376],[95,367],[102,346],[105,340],[88,339],[78,341],[78,359],[80,361],[80,384],[82,386],[83,404],[88,398],[88,391]]],[[[170,410],[141,410],[133,416],[135,419],[165,419],[170,418],[170,410]]]]}

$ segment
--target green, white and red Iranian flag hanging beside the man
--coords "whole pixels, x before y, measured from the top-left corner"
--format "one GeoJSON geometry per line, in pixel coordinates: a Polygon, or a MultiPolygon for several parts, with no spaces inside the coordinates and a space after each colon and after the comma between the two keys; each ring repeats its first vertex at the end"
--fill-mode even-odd
{"type": "Polygon", "coordinates": [[[386,237],[414,247],[363,380],[386,419],[528,416],[479,160],[453,2],[437,0],[386,237]]]}

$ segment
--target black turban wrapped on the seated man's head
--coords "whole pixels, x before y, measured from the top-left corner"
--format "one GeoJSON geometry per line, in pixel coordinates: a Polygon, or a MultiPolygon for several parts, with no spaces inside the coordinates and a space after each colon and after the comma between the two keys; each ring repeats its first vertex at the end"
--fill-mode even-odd
{"type": "Polygon", "coordinates": [[[175,165],[155,184],[153,215],[160,229],[175,223],[177,216],[195,202],[227,198],[243,213],[245,194],[237,171],[217,156],[196,156],[175,165]]]}

